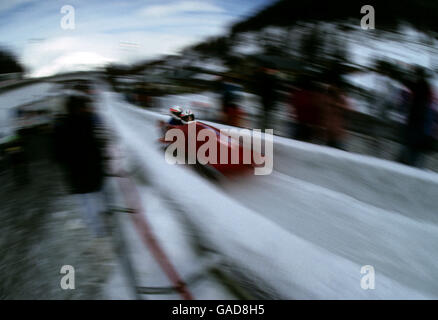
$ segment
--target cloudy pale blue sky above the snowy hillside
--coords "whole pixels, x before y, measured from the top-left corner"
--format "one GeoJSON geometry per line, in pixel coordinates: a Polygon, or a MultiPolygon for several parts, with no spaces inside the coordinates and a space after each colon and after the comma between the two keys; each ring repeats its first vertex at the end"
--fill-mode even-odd
{"type": "Polygon", "coordinates": [[[2,0],[0,46],[30,76],[131,64],[174,54],[274,0],[2,0]],[[74,9],[74,28],[71,10],[74,9]],[[70,14],[69,14],[70,13],[70,14]],[[63,28],[64,26],[64,28],[63,28]]]}

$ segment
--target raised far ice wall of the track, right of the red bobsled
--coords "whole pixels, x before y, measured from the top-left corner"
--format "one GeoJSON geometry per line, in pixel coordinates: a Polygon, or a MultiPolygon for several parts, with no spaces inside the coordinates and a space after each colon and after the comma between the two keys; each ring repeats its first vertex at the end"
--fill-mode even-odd
{"type": "Polygon", "coordinates": [[[438,174],[281,137],[274,168],[374,206],[438,224],[438,174]]]}

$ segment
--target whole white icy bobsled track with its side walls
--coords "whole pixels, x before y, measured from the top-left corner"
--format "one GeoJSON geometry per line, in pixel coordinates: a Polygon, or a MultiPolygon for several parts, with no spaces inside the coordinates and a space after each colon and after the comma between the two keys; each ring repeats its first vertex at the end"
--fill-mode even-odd
{"type": "Polygon", "coordinates": [[[271,175],[216,186],[165,162],[156,127],[165,117],[111,92],[99,106],[154,187],[278,297],[438,298],[437,174],[275,137],[271,175]],[[374,290],[361,288],[364,265],[374,290]]]}

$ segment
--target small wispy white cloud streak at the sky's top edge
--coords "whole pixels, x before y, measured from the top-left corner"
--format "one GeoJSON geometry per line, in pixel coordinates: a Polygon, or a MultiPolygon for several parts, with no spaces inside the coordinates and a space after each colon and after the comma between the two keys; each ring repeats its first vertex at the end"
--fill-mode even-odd
{"type": "Polygon", "coordinates": [[[182,1],[163,5],[147,6],[141,10],[145,17],[161,18],[184,13],[223,13],[225,10],[205,1],[182,1]]]}

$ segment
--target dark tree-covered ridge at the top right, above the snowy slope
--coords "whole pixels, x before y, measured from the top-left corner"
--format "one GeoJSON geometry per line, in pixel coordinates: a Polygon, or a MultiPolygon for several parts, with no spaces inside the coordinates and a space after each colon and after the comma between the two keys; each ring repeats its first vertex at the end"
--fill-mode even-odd
{"type": "Polygon", "coordinates": [[[410,24],[423,32],[438,32],[435,0],[280,0],[249,19],[234,24],[232,33],[260,30],[268,25],[289,26],[299,21],[342,23],[353,19],[359,24],[360,8],[364,4],[374,7],[378,13],[376,30],[393,30],[410,24]],[[421,19],[419,19],[421,17],[421,19]]]}

